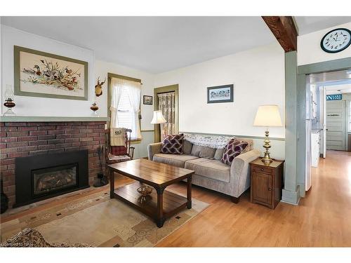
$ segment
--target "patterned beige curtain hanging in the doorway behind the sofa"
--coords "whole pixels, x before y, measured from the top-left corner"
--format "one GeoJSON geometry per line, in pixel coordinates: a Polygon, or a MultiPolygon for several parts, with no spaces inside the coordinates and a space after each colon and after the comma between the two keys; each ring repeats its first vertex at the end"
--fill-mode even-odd
{"type": "Polygon", "coordinates": [[[176,134],[176,96],[174,92],[157,94],[159,97],[159,110],[166,119],[166,123],[161,124],[161,138],[169,134],[176,134]]]}

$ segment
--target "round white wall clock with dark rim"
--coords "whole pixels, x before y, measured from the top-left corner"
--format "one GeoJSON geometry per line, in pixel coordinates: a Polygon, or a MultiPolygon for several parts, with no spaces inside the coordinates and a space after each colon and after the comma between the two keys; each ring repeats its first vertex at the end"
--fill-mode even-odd
{"type": "Polygon", "coordinates": [[[337,28],[326,33],[321,40],[321,48],[328,53],[337,53],[351,43],[351,31],[347,28],[337,28]]]}

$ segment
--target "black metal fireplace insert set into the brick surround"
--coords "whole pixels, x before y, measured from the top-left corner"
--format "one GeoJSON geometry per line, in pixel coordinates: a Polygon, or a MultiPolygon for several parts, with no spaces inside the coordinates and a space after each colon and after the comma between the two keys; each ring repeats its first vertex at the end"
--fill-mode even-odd
{"type": "Polygon", "coordinates": [[[88,150],[15,159],[14,207],[66,194],[88,185],[88,150]]]}

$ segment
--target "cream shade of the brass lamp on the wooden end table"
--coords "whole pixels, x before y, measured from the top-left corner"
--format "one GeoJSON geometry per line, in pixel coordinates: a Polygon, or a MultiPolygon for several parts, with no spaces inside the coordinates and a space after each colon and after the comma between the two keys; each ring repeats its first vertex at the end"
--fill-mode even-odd
{"type": "Polygon", "coordinates": [[[279,108],[277,105],[261,105],[256,112],[253,126],[282,127],[279,108]]]}

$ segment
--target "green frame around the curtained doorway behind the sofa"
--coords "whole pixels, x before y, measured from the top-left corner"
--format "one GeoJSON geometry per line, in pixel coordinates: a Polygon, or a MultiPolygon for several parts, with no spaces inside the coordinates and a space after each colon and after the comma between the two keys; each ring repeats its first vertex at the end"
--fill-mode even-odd
{"type": "MultiPolygon", "coordinates": [[[[176,115],[176,130],[179,130],[179,86],[178,84],[154,88],[154,111],[159,110],[159,96],[160,93],[175,93],[175,115],[176,115]]],[[[154,124],[154,142],[161,142],[161,126],[154,124]]]]}

